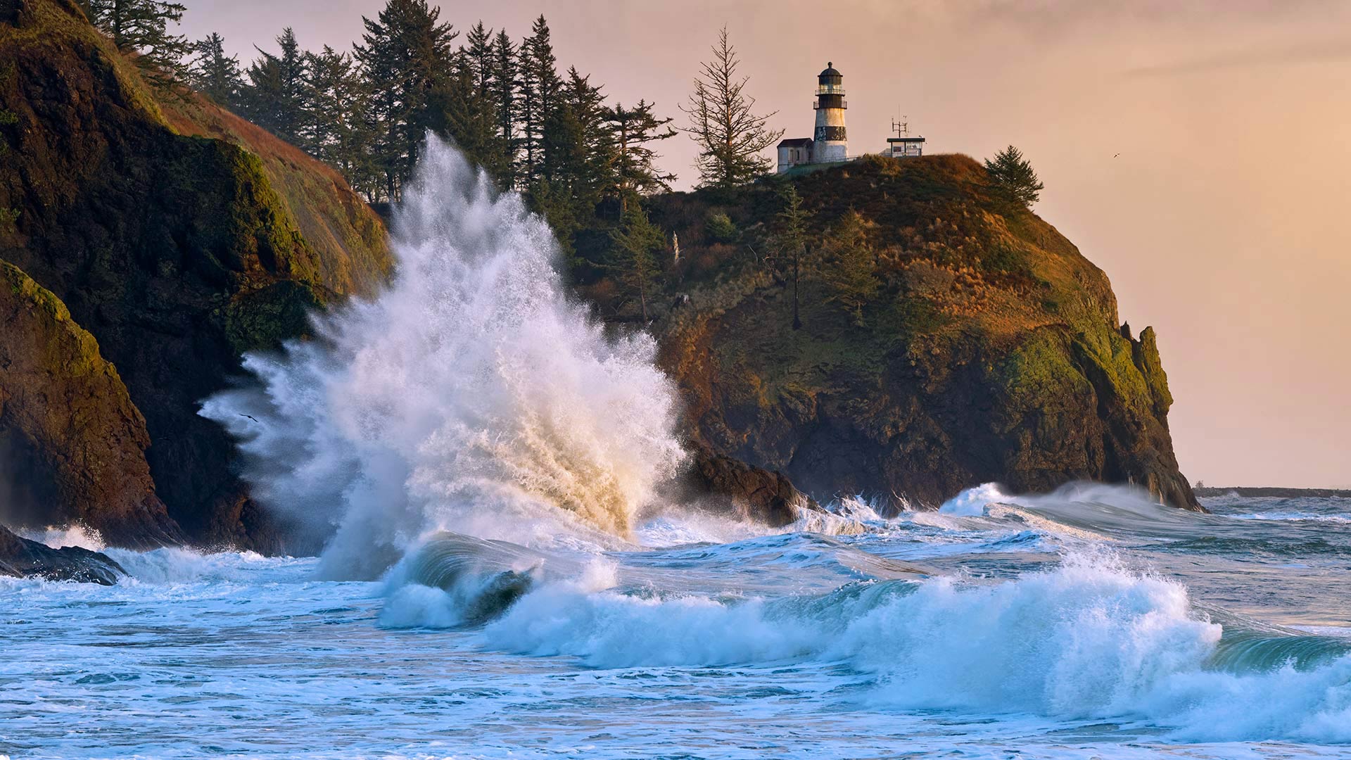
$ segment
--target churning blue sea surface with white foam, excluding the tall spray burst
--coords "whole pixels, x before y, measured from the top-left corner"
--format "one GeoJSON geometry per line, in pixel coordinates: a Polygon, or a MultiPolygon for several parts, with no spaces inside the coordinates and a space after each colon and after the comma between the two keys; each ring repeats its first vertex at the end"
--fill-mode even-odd
{"type": "Polygon", "coordinates": [[[112,549],[115,587],[0,581],[0,753],[1351,755],[1351,503],[977,491],[621,549],[438,534],[377,581],[112,549]]]}

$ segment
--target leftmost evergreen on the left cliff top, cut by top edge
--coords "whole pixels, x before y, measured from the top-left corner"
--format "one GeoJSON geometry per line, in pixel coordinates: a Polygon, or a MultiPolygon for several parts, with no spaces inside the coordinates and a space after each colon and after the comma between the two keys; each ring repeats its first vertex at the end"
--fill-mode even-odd
{"type": "Polygon", "coordinates": [[[157,87],[169,87],[185,73],[188,39],[169,34],[169,24],[182,20],[186,7],[165,0],[81,0],[85,15],[112,38],[123,53],[136,54],[136,64],[157,87]]]}

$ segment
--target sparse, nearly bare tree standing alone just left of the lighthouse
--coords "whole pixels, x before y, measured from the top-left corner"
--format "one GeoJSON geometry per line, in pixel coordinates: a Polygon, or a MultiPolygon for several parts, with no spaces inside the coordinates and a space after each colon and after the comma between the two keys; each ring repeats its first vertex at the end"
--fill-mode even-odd
{"type": "Polygon", "coordinates": [[[681,110],[689,115],[684,131],[698,143],[700,181],[705,187],[734,188],[763,174],[771,166],[759,153],[778,142],[784,130],[770,130],[765,124],[777,111],[757,116],[755,99],[746,95],[750,77],[736,76],[740,61],[727,41],[727,27],[719,32],[712,47],[713,60],[703,64],[694,78],[694,92],[681,110]]]}

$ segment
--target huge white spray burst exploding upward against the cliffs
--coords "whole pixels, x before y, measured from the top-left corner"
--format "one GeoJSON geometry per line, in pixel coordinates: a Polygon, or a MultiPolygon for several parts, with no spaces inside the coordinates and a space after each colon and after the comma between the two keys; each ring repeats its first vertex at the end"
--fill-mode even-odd
{"type": "Polygon", "coordinates": [[[322,572],[336,577],[376,575],[435,529],[627,536],[684,458],[654,341],[607,339],[569,303],[547,224],[435,138],[390,243],[376,300],[247,356],[258,383],[204,403],[255,498],[331,534],[322,572]]]}

